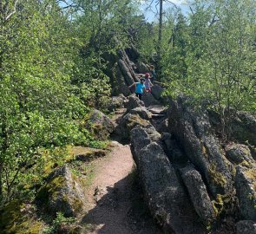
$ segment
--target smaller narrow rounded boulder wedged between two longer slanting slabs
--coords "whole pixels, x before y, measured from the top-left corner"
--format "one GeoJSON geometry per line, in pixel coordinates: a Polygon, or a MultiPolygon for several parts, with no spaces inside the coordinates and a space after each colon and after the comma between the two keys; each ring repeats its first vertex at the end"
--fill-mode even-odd
{"type": "Polygon", "coordinates": [[[208,226],[213,223],[216,215],[211,199],[207,193],[207,187],[200,176],[200,172],[197,172],[193,166],[181,168],[180,171],[181,177],[193,202],[194,210],[197,212],[202,222],[208,226]]]}

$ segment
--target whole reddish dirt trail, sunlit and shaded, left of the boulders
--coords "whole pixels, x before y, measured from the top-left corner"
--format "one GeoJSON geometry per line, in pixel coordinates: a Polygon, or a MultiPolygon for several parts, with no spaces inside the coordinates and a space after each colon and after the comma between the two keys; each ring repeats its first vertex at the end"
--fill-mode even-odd
{"type": "Polygon", "coordinates": [[[108,156],[95,161],[89,212],[82,218],[83,233],[160,233],[141,202],[130,147],[117,142],[112,145],[108,156]]]}

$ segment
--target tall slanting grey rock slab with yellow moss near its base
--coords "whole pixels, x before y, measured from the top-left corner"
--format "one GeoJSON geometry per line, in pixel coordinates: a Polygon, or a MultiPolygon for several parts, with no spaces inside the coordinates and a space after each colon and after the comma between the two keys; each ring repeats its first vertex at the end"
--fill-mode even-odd
{"type": "Polygon", "coordinates": [[[168,114],[169,132],[179,141],[187,157],[207,182],[211,195],[233,191],[230,163],[214,136],[206,112],[195,111],[187,99],[171,102],[168,114]]]}

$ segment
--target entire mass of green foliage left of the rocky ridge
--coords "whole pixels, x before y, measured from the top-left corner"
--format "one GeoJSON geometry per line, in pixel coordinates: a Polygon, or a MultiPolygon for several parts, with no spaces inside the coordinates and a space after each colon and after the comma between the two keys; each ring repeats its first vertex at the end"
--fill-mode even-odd
{"type": "Polygon", "coordinates": [[[60,2],[0,3],[0,204],[33,197],[67,144],[105,144],[82,120],[108,105],[106,57],[128,45],[137,4],[60,2]]]}

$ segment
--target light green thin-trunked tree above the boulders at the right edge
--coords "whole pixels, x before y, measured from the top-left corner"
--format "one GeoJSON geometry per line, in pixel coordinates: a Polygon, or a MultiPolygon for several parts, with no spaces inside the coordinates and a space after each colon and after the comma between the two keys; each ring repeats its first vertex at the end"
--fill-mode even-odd
{"type": "Polygon", "coordinates": [[[195,1],[188,18],[187,78],[169,83],[169,94],[207,101],[224,128],[233,108],[255,112],[254,10],[254,1],[195,1]]]}

